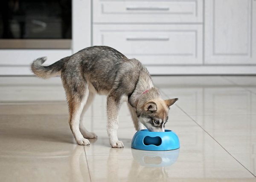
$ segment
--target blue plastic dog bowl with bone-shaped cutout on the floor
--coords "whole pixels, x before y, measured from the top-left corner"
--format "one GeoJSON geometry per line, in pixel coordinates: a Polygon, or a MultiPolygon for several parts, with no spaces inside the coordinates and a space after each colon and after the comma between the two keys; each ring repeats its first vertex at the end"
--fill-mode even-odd
{"type": "Polygon", "coordinates": [[[131,148],[143,151],[169,151],[180,148],[177,135],[171,130],[165,132],[137,131],[131,140],[131,148]]]}

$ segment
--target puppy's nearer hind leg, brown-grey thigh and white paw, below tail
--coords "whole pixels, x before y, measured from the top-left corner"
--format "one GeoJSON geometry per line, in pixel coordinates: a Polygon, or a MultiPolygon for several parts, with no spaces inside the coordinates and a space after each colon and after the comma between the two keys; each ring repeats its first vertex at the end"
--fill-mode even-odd
{"type": "Polygon", "coordinates": [[[79,145],[90,145],[89,140],[85,139],[79,130],[80,116],[89,95],[88,84],[79,75],[72,76],[65,73],[61,75],[69,108],[70,129],[79,145]]]}

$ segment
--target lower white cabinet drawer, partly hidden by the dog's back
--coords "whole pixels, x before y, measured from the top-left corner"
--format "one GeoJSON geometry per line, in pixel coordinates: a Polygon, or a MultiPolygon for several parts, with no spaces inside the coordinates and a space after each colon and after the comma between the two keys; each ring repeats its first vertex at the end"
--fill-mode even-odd
{"type": "Polygon", "coordinates": [[[146,65],[202,64],[202,25],[94,25],[93,45],[146,65]]]}

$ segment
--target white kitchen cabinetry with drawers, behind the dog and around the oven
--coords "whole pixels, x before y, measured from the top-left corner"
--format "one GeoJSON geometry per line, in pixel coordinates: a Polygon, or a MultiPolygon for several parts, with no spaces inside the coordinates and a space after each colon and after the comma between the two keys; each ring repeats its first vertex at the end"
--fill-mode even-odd
{"type": "Polygon", "coordinates": [[[136,58],[151,74],[256,74],[256,0],[73,0],[70,49],[1,49],[0,75],[31,75],[93,45],[136,58]]]}

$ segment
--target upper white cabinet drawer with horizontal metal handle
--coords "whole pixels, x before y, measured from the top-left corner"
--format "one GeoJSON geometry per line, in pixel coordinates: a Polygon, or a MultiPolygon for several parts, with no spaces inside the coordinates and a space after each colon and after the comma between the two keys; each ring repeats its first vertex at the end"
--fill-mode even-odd
{"type": "Polygon", "coordinates": [[[202,23],[203,0],[93,0],[94,23],[202,23]]]}

